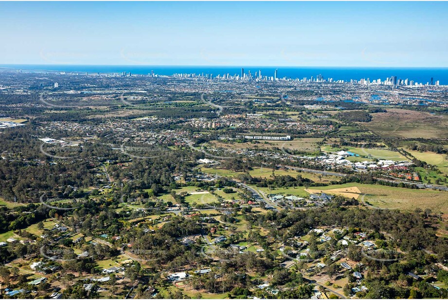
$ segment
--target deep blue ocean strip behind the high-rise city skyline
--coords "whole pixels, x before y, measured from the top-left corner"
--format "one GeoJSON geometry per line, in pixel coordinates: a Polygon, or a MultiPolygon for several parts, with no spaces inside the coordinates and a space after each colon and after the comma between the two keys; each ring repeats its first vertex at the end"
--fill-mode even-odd
{"type": "Polygon", "coordinates": [[[132,74],[147,75],[151,70],[159,75],[173,75],[174,73],[196,73],[230,75],[241,74],[244,68],[246,74],[251,71],[252,76],[261,70],[262,76],[274,76],[275,69],[278,69],[278,78],[316,78],[319,74],[323,79],[333,78],[334,80],[350,81],[369,78],[370,81],[385,80],[391,76],[397,79],[409,79],[414,83],[427,83],[433,78],[433,83],[437,80],[440,84],[448,84],[447,67],[229,67],[229,66],[105,66],[105,65],[0,65],[0,68],[12,68],[35,71],[64,71],[64,72],[89,72],[89,73],[121,73],[130,72],[132,74]]]}

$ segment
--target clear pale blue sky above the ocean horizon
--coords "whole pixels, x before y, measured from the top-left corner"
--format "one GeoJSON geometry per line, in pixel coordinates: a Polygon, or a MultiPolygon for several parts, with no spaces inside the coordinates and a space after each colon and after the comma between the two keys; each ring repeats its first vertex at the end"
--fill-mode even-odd
{"type": "Polygon", "coordinates": [[[447,2],[0,2],[0,64],[448,67],[447,2]]]}

